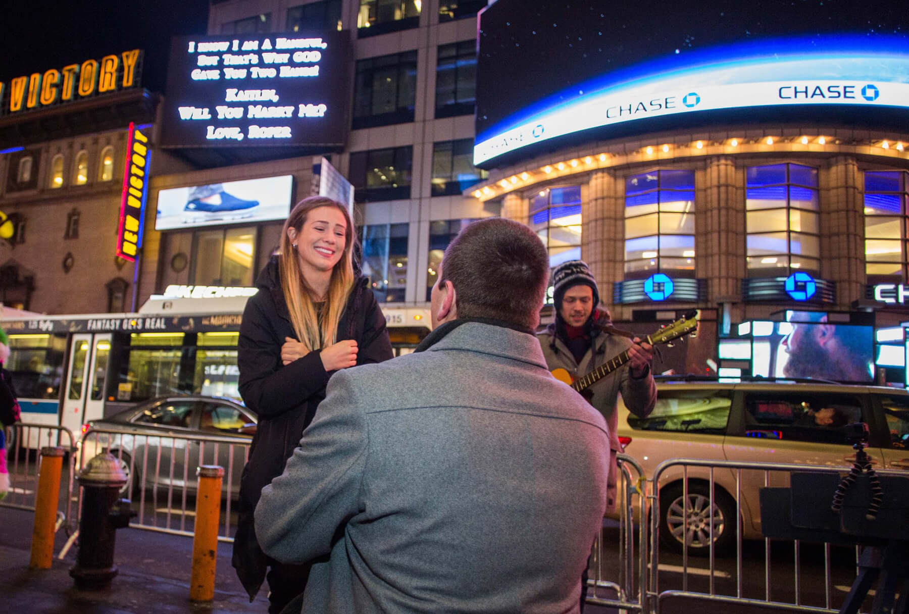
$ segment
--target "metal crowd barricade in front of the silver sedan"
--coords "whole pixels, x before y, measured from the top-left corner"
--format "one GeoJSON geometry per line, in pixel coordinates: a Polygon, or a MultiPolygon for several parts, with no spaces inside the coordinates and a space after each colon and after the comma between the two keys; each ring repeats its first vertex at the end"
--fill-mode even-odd
{"type": "MultiPolygon", "coordinates": [[[[122,497],[131,499],[134,529],[193,536],[197,467],[220,465],[225,470],[218,540],[234,541],[240,475],[249,456],[249,441],[213,434],[146,435],[127,429],[90,429],[77,446],[75,470],[96,454],[109,451],[129,476],[122,497]]],[[[79,494],[81,497],[81,493],[79,494]]],[[[81,510],[81,500],[79,501],[81,510]]]]}

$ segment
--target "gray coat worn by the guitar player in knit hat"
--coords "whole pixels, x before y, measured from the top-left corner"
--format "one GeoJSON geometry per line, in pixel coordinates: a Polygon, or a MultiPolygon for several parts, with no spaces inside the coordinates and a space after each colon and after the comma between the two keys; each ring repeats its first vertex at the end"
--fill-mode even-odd
{"type": "MultiPolygon", "coordinates": [[[[587,350],[581,362],[574,360],[574,355],[568,346],[562,342],[555,334],[555,324],[550,324],[544,332],[537,334],[540,340],[540,347],[543,348],[543,355],[546,365],[550,371],[562,368],[571,373],[575,378],[583,377],[590,371],[594,371],[605,361],[609,361],[631,346],[631,340],[619,335],[608,334],[594,329],[591,339],[591,348],[587,350]]],[[[618,395],[622,394],[622,400],[629,411],[635,415],[644,417],[654,410],[656,404],[656,384],[650,371],[640,379],[634,379],[631,376],[631,370],[625,364],[619,367],[618,371],[613,371],[600,381],[590,387],[593,397],[590,403],[603,414],[606,420],[606,426],[609,429],[609,444],[613,454],[613,461],[610,463],[609,471],[609,511],[615,508],[615,487],[618,480],[617,469],[615,465],[615,454],[622,451],[619,444],[619,436],[616,432],[618,426],[618,414],[616,404],[618,395]]]]}

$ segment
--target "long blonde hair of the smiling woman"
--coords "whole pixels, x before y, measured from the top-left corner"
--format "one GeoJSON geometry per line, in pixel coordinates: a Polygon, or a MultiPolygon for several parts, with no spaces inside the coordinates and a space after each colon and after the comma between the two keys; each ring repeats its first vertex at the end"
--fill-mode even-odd
{"type": "Polygon", "coordinates": [[[320,350],[336,342],[338,324],[344,314],[347,299],[354,287],[354,223],[345,205],[325,196],[309,196],[296,203],[287,216],[281,231],[281,255],[278,265],[281,272],[281,289],[284,291],[290,322],[294,325],[297,341],[304,344],[307,351],[320,350]],[[295,229],[299,236],[306,222],[306,216],[318,207],[335,207],[344,213],[347,222],[345,231],[344,255],[335,264],[332,278],[328,283],[328,294],[319,318],[313,301],[314,292],[300,270],[296,250],[287,236],[287,229],[295,229]]]}

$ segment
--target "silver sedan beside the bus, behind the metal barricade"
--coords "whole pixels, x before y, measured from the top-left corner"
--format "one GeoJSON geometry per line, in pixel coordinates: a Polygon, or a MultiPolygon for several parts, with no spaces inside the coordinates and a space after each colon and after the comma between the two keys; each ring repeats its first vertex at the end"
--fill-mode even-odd
{"type": "Polygon", "coordinates": [[[124,493],[135,497],[142,488],[195,491],[196,467],[220,465],[222,490],[236,498],[255,423],[253,411],[230,399],[159,397],[86,424],[77,467],[110,451],[129,477],[124,493]]]}

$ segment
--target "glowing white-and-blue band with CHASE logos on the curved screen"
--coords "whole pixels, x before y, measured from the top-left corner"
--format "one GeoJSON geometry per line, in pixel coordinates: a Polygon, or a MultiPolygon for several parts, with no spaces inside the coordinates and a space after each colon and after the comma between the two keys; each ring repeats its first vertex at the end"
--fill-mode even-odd
{"type": "Polygon", "coordinates": [[[891,43],[846,41],[811,50],[774,42],[756,51],[753,45],[737,45],[710,57],[693,54],[689,64],[674,63],[663,71],[648,64],[643,76],[630,81],[612,83],[604,75],[575,86],[567,102],[537,104],[478,135],[474,163],[565,134],[648,117],[803,104],[909,109],[909,54],[894,53],[899,47],[891,43]]]}

